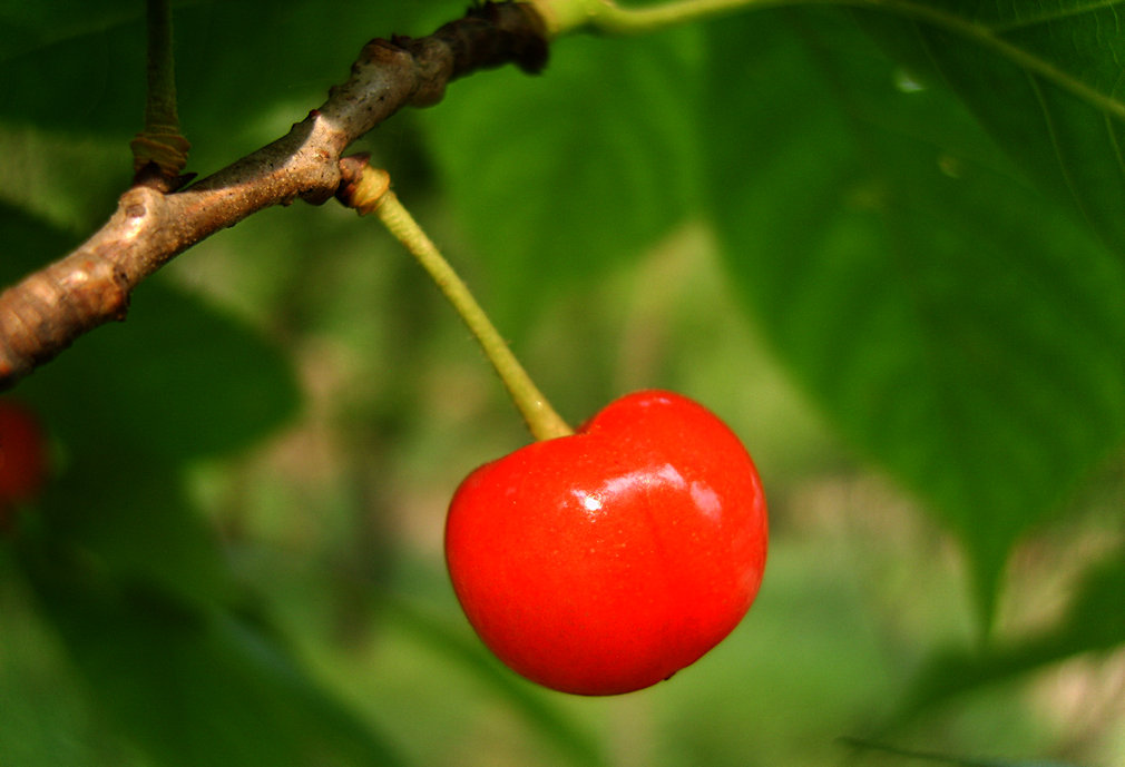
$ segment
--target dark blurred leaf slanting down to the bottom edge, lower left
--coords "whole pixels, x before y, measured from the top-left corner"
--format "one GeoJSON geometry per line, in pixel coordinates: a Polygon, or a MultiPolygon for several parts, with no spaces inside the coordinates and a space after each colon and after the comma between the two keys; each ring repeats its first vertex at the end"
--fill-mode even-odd
{"type": "Polygon", "coordinates": [[[65,547],[25,561],[90,694],[156,764],[400,764],[254,620],[115,578],[65,547]]]}

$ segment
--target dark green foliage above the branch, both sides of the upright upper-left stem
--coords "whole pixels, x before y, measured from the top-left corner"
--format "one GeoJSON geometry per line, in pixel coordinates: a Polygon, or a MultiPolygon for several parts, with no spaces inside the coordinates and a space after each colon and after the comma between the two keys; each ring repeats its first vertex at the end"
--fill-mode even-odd
{"type": "MultiPolygon", "coordinates": [[[[428,0],[255,0],[177,3],[177,91],[204,174],[288,130],[348,76],[362,45],[421,36],[464,11],[428,0]]],[[[0,120],[120,142],[145,105],[144,3],[0,0],[0,120]],[[51,83],[44,88],[44,83],[51,83]]]]}

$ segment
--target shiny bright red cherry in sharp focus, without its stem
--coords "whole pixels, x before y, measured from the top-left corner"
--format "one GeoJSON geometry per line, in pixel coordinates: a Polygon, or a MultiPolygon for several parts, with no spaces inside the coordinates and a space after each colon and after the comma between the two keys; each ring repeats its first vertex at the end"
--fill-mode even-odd
{"type": "Polygon", "coordinates": [[[719,643],[757,595],[766,541],[750,455],[668,391],[478,468],[446,523],[453,590],[484,643],[579,695],[648,687],[719,643]]]}

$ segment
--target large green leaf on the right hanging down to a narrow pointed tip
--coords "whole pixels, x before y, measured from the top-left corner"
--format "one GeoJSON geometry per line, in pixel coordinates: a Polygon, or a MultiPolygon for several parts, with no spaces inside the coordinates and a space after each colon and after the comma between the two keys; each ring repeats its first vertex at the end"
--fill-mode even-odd
{"type": "Polygon", "coordinates": [[[960,534],[987,622],[1012,543],[1125,437],[1125,263],[844,16],[727,21],[710,52],[737,289],[842,433],[960,534]]]}

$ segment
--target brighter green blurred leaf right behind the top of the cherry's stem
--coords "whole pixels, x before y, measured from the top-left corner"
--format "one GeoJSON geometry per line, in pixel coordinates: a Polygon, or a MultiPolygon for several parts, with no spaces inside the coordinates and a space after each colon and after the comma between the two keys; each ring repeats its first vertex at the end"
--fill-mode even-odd
{"type": "Polygon", "coordinates": [[[551,286],[637,258],[694,202],[693,43],[560,40],[542,76],[474,76],[418,116],[503,332],[551,286]]]}

